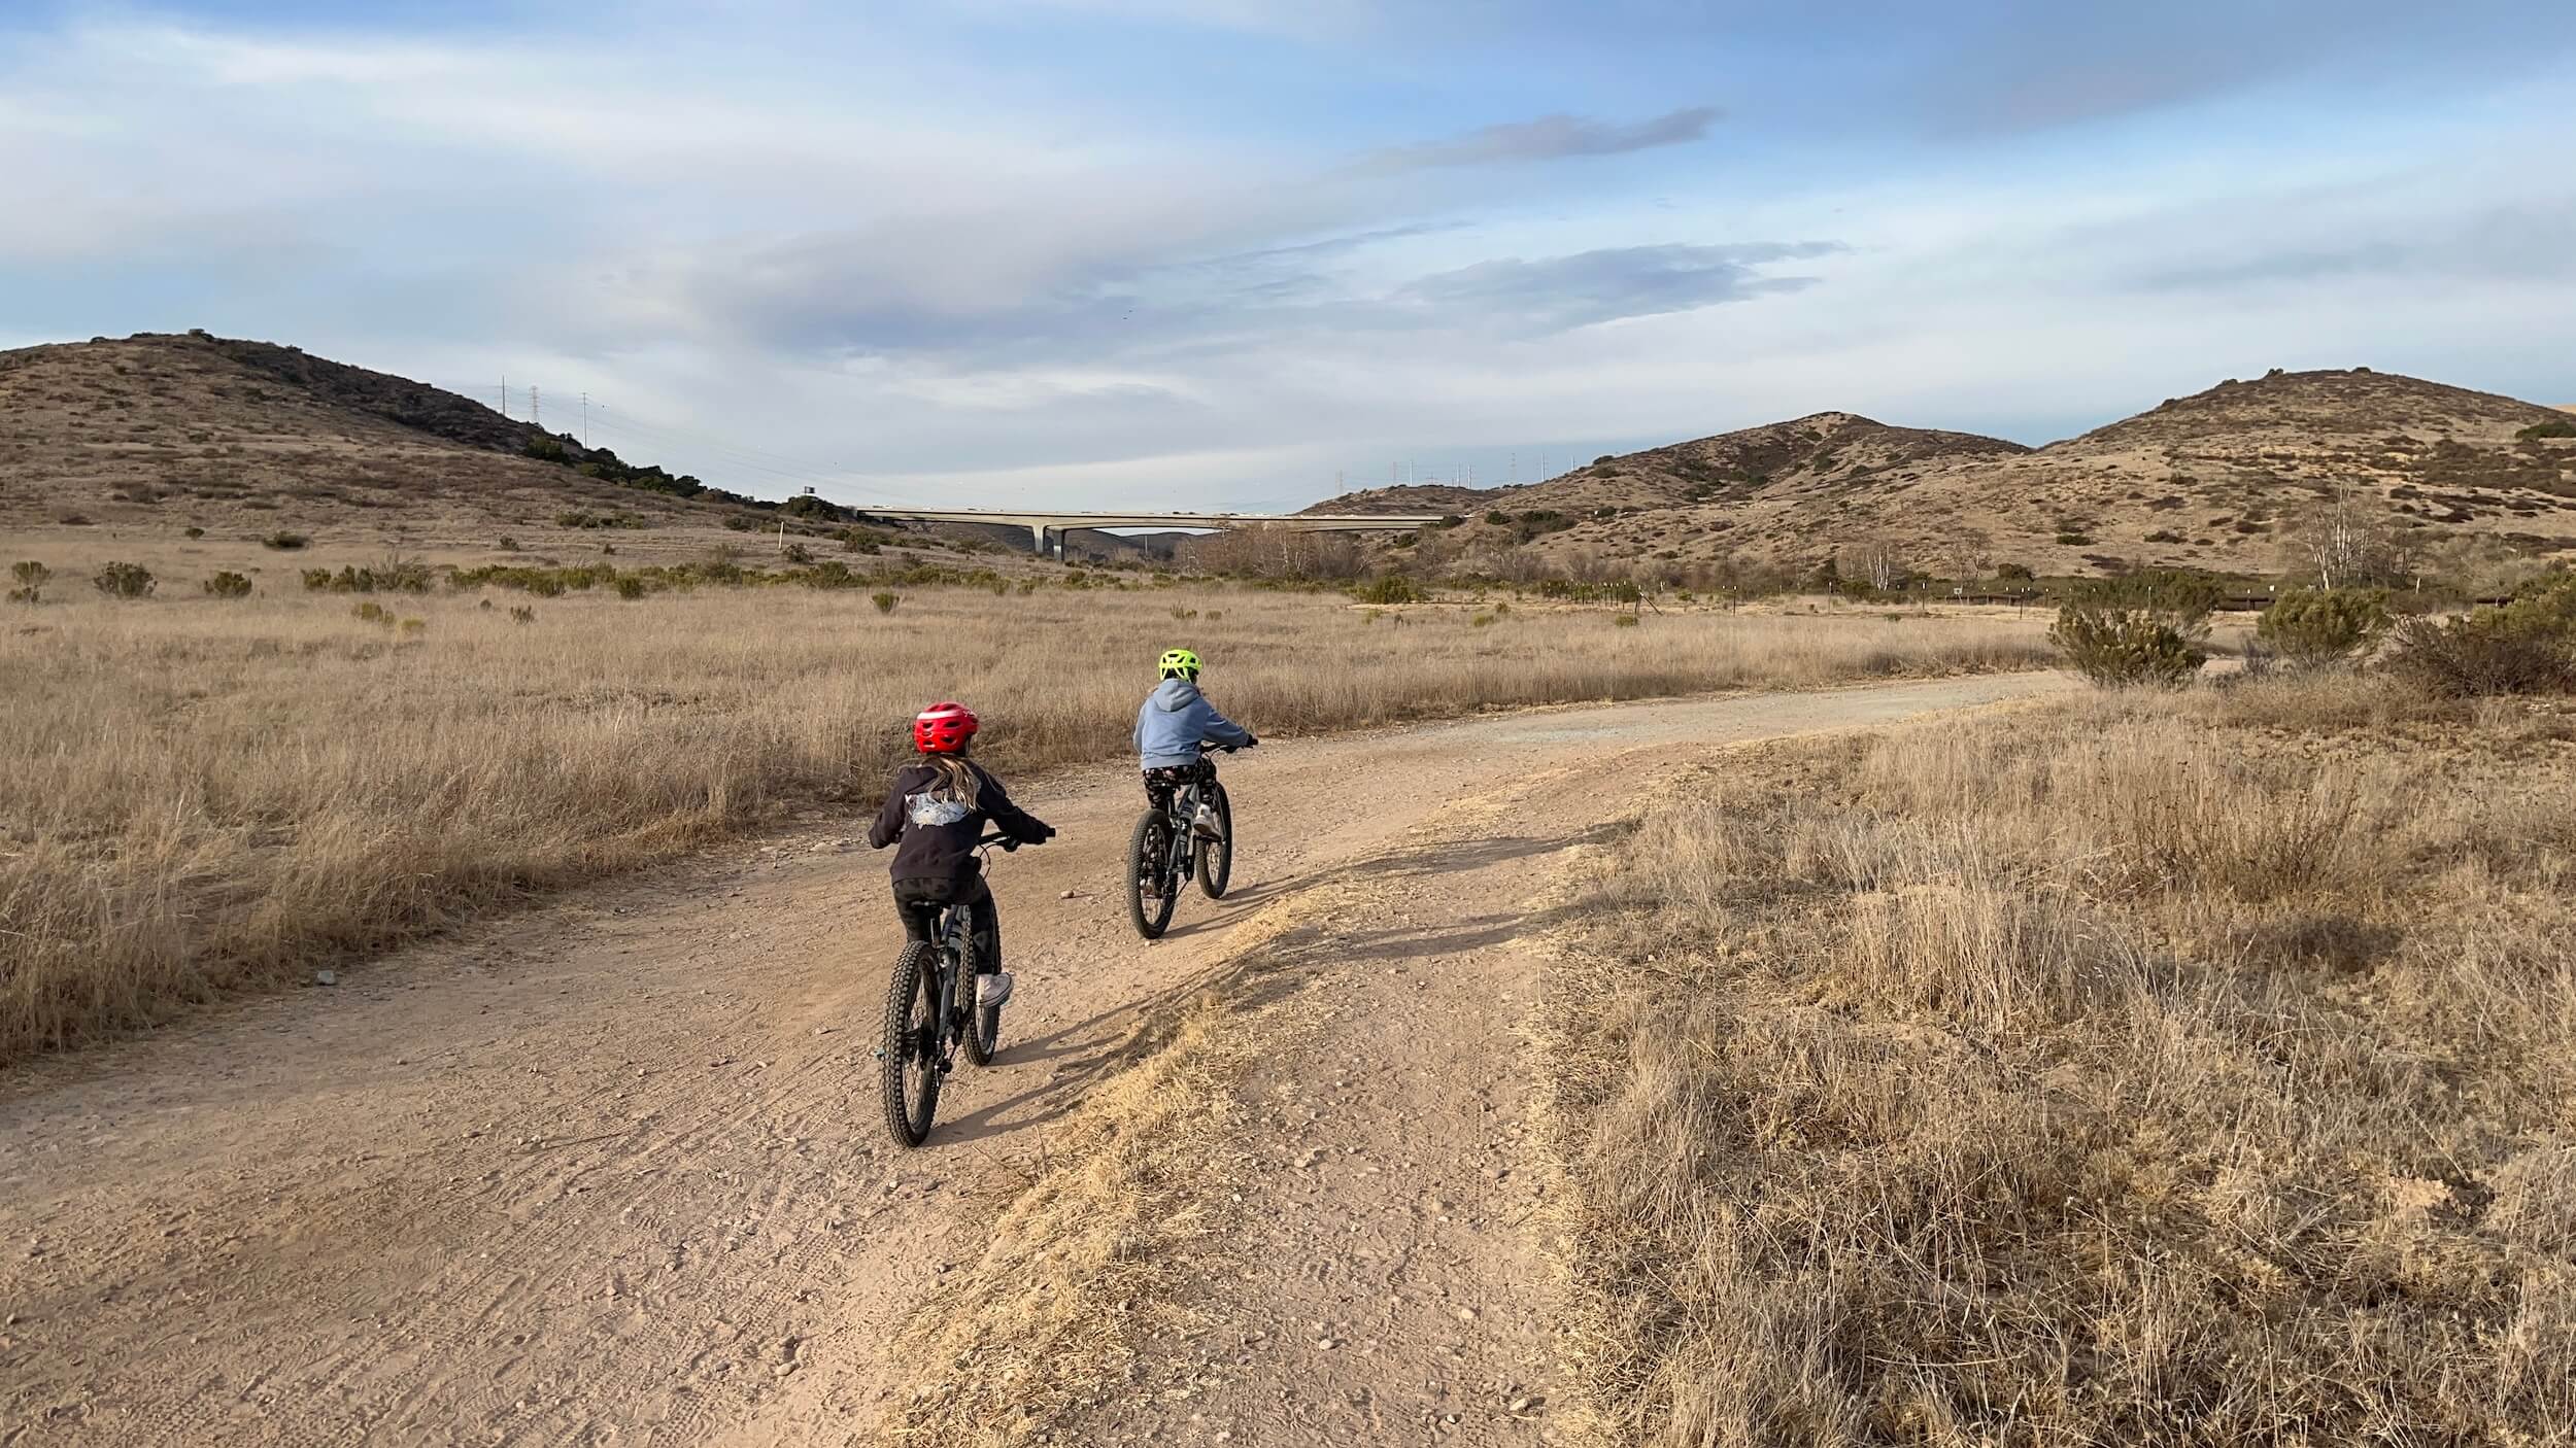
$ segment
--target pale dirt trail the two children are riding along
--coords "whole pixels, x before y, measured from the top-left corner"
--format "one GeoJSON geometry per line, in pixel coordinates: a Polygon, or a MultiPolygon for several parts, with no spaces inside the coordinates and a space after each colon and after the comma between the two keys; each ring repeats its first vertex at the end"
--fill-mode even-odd
{"type": "Polygon", "coordinates": [[[1319,886],[1373,902],[1332,935],[1360,984],[1329,1049],[1260,1082],[1278,1170],[1247,1193],[1275,1239],[1229,1288],[1239,1332],[1298,1348],[1236,1353],[1231,1396],[1195,1422],[1113,1415],[1100,1435],[1373,1440],[1404,1420],[1535,1440],[1543,1404],[1510,1409],[1546,1396],[1548,1358],[1535,1257],[1510,1232],[1533,1190],[1510,1167],[1533,969],[1512,940],[1546,855],[1623,806],[1571,765],[2050,688],[1265,747],[1224,765],[1236,894],[1193,897],[1154,946],[1118,899],[1131,776],[1030,781],[1064,837],[997,866],[1020,971],[1005,1054],[961,1067],[922,1152],[886,1144],[868,1056],[896,943],[884,858],[837,832],[39,1062],[0,1080],[0,1445],[863,1443],[894,1381],[878,1342],[1028,1177],[1046,1123],[1216,971],[1239,922],[1319,886]]]}

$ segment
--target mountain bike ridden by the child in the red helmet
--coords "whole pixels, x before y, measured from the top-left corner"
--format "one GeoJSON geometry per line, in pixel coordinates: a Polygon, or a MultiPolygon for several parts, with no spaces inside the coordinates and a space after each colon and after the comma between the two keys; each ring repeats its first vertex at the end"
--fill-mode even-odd
{"type": "MultiPolygon", "coordinates": [[[[992,848],[1018,850],[1020,840],[984,835],[976,850],[992,858],[992,848]]],[[[1002,928],[994,922],[994,953],[1002,946],[1002,928]]],[[[886,1077],[886,1131],[899,1147],[920,1147],[930,1139],[930,1118],[940,1110],[940,1082],[966,1049],[966,1059],[989,1067],[1002,1049],[1002,1007],[976,1005],[976,974],[999,969],[999,961],[976,958],[974,907],[963,899],[943,904],[930,917],[927,940],[907,940],[894,958],[894,982],[886,984],[886,1041],[876,1049],[886,1077]]]]}

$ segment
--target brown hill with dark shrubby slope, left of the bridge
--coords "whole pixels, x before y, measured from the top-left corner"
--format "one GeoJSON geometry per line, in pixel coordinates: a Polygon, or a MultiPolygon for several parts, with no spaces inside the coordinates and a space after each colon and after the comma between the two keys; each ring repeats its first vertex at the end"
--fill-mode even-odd
{"type": "MultiPolygon", "coordinates": [[[[837,520],[814,500],[799,513],[837,520]]],[[[204,528],[216,541],[580,551],[613,536],[621,554],[652,557],[775,523],[768,502],[296,348],[144,332],[0,353],[0,531],[13,536],[204,528]]]]}

